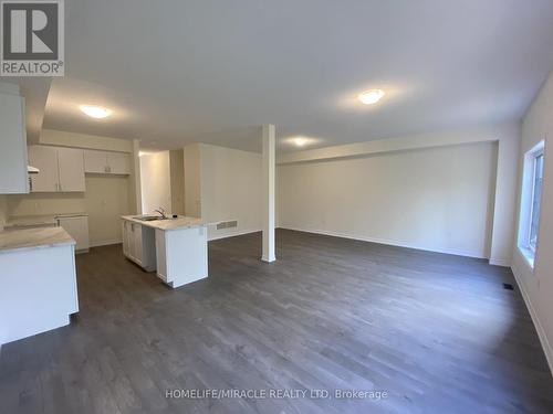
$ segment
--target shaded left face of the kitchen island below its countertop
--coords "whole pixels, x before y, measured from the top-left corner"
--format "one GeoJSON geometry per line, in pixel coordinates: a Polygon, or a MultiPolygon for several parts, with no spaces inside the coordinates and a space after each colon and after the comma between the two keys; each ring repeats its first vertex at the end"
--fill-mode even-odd
{"type": "Polygon", "coordinates": [[[156,269],[154,229],[123,221],[123,253],[145,270],[156,269]]]}

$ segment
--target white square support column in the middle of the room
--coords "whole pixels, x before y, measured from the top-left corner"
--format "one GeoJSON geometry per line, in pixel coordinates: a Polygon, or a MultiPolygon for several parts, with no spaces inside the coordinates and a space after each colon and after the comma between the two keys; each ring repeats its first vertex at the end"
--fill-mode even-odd
{"type": "Polygon", "coordinates": [[[263,262],[274,262],[274,125],[263,125],[263,262]]]}

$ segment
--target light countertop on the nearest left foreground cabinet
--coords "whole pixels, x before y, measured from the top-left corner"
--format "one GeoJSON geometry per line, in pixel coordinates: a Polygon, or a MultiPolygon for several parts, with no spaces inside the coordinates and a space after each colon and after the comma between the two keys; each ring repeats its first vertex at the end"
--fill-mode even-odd
{"type": "Polygon", "coordinates": [[[75,241],[62,227],[6,230],[0,232],[0,253],[74,244],[75,241]]]}

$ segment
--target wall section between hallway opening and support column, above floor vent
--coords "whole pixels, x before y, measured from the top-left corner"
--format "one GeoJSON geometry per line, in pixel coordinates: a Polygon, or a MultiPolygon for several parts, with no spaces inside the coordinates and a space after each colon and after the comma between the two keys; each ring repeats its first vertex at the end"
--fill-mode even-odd
{"type": "Polygon", "coordinates": [[[261,155],[206,144],[199,152],[201,219],[238,221],[233,229],[210,227],[209,238],[261,231],[261,155]]]}

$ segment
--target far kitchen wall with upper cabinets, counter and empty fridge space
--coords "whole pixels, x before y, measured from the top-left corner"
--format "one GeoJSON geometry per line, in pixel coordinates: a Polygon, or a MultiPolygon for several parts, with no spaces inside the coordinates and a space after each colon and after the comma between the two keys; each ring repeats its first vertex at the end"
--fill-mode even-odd
{"type": "Polygon", "coordinates": [[[75,240],[77,253],[88,251],[91,235],[93,246],[121,241],[117,233],[96,233],[106,219],[113,225],[117,212],[128,211],[128,201],[117,193],[127,192],[121,188],[128,188],[129,153],[51,145],[27,149],[29,193],[8,197],[6,230],[61,226],[75,240]]]}

